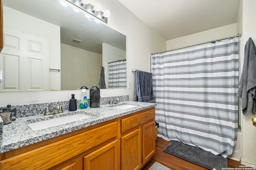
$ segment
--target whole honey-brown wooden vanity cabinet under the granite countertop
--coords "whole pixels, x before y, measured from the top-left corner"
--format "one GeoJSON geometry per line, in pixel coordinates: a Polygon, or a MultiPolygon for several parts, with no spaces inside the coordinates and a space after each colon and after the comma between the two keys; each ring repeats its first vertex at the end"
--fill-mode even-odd
{"type": "Polygon", "coordinates": [[[0,154],[0,170],[135,170],[155,152],[150,108],[0,154]]]}

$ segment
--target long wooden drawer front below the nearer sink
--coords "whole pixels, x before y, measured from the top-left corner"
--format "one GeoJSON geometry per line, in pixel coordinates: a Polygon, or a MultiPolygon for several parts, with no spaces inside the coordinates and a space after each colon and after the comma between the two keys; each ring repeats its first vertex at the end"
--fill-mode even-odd
{"type": "Polygon", "coordinates": [[[117,136],[117,121],[0,161],[1,170],[45,170],[117,136]]]}

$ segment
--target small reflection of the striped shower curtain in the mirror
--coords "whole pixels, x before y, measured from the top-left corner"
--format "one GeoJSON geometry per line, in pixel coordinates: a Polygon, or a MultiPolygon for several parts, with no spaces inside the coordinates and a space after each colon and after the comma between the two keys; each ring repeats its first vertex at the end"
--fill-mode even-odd
{"type": "Polygon", "coordinates": [[[126,88],[126,61],[108,63],[108,88],[126,88]]]}

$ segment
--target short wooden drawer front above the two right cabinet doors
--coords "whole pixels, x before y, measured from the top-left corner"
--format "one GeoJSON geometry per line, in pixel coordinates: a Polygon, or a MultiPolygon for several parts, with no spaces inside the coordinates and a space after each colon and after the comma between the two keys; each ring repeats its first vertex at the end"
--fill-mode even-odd
{"type": "Polygon", "coordinates": [[[155,119],[155,108],[121,119],[121,132],[124,133],[153,119],[155,119]]]}

